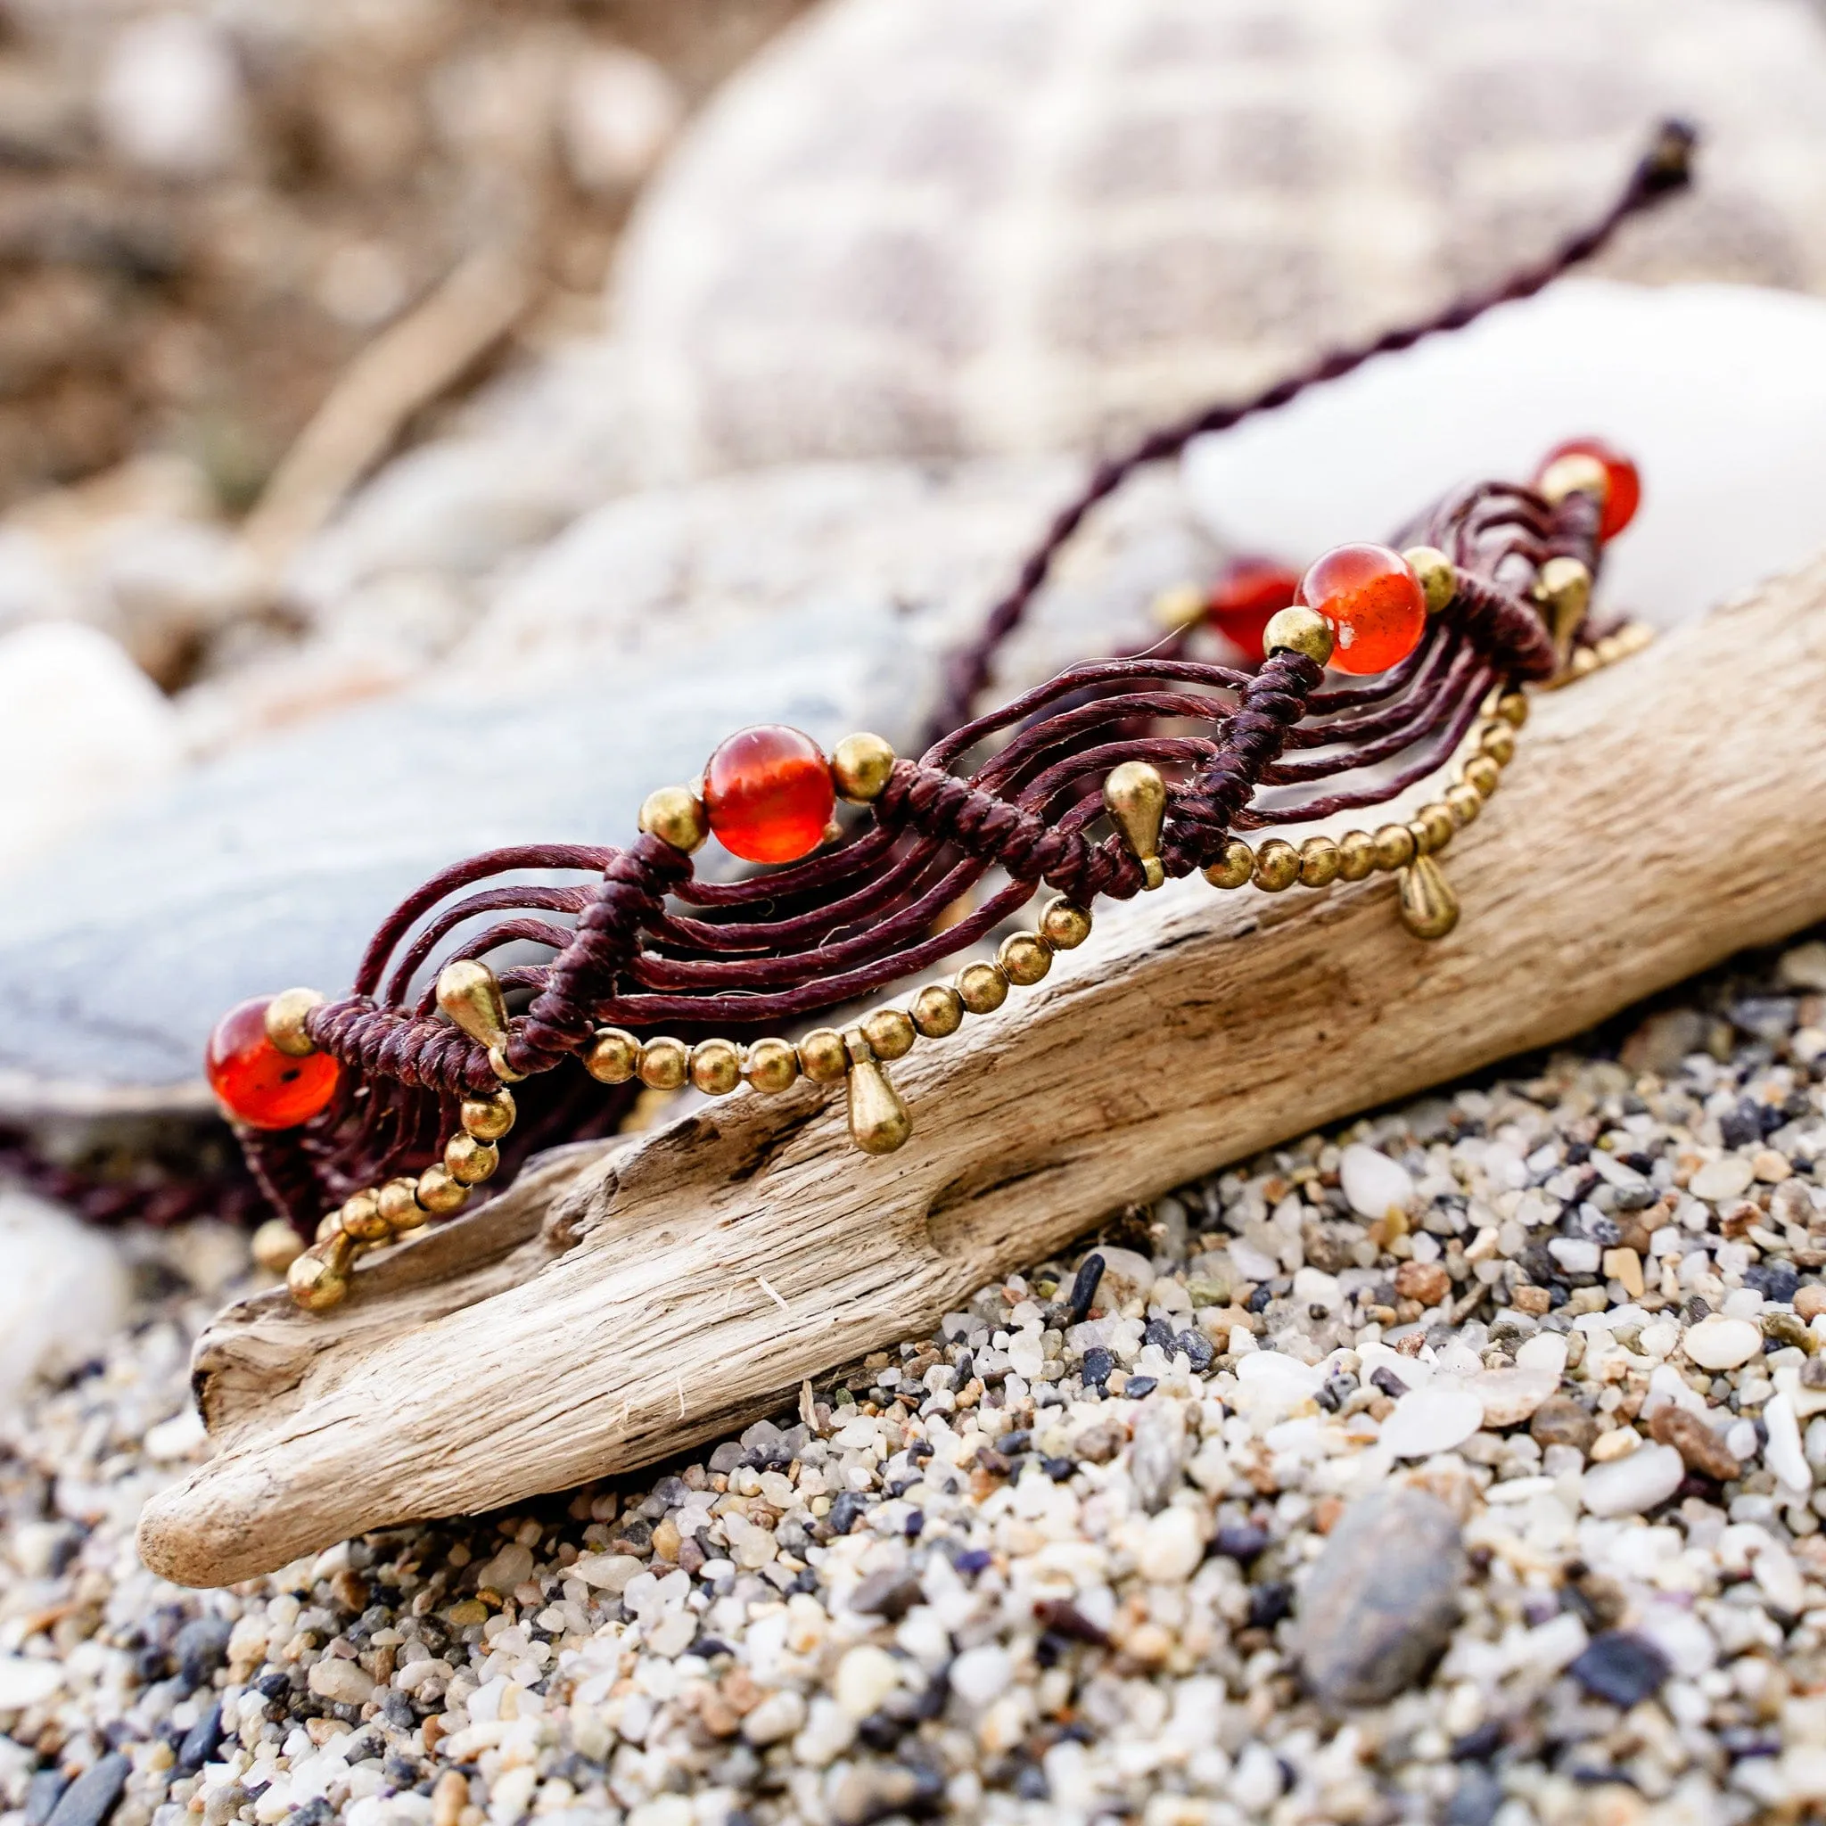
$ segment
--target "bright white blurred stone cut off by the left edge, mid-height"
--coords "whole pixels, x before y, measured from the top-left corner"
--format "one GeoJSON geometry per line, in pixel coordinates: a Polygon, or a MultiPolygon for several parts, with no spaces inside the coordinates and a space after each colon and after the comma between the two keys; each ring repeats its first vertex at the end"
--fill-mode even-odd
{"type": "Polygon", "coordinates": [[[40,621],[0,635],[0,871],[55,849],[179,767],[177,716],[95,628],[40,621]]]}

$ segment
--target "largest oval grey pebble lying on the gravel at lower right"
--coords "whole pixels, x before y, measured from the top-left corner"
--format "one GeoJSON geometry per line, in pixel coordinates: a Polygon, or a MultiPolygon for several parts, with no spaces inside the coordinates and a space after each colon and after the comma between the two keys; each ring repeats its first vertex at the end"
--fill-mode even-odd
{"type": "Polygon", "coordinates": [[[1326,1705],[1379,1705],[1439,1658],[1459,1616],[1464,1543],[1439,1497],[1382,1485],[1351,1503],[1298,1600],[1306,1682],[1326,1705]]]}

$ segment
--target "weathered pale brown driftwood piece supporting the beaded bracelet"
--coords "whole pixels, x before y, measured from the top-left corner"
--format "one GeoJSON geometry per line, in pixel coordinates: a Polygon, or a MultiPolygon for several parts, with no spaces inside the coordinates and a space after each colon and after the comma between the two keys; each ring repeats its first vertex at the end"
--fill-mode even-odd
{"type": "Polygon", "coordinates": [[[214,1585],[347,1534],[674,1453],[929,1328],[1125,1200],[1508,1054],[1826,917],[1826,561],[1536,703],[1446,851],[1464,904],[1408,937],[1393,886],[1105,909],[1037,990],[895,1066],[889,1160],[840,1101],[736,1096],[566,1150],[197,1346],[217,1455],[141,1552],[214,1585]]]}

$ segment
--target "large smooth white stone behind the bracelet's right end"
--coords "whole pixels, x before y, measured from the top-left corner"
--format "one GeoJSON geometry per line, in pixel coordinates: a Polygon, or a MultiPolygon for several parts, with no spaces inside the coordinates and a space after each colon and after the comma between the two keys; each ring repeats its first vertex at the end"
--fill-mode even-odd
{"type": "Polygon", "coordinates": [[[1525,480],[1598,427],[1643,477],[1603,593],[1674,624],[1817,551],[1822,422],[1821,299],[1570,279],[1203,438],[1185,471],[1222,537],[1300,555],[1393,530],[1466,477],[1525,480]]]}

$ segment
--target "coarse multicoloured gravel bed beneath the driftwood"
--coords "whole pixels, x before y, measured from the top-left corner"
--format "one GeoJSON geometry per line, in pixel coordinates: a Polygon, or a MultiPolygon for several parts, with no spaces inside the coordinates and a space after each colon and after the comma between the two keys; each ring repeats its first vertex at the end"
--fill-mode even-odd
{"type": "MultiPolygon", "coordinates": [[[[0,1461],[27,1826],[1826,1806],[1826,942],[1112,1218],[661,1475],[226,1592],[221,1225],[0,1461]]],[[[511,1443],[504,1443],[511,1450],[511,1443]]]]}

